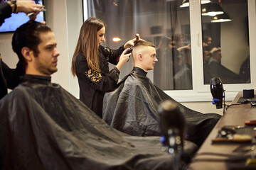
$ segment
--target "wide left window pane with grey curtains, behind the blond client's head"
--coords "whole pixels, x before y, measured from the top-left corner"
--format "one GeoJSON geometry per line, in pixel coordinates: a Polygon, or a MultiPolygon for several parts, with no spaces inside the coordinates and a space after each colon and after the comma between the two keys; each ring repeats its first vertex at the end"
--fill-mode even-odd
{"type": "MultiPolygon", "coordinates": [[[[204,0],[205,1],[205,0],[204,0]]],[[[189,7],[183,0],[88,0],[88,16],[107,23],[103,44],[112,49],[134,38],[136,33],[156,46],[159,62],[149,77],[163,90],[192,89],[189,7]],[[119,38],[113,42],[112,38],[119,38]]],[[[207,2],[207,1],[206,1],[207,2]]],[[[131,62],[127,63],[131,64],[131,62]]],[[[122,72],[119,78],[132,70],[122,72]]]]}

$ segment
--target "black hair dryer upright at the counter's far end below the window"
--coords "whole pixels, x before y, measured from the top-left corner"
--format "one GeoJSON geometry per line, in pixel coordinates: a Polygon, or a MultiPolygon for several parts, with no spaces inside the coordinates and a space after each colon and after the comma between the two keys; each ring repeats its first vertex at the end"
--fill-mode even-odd
{"type": "Polygon", "coordinates": [[[216,108],[223,108],[223,84],[219,77],[210,79],[210,93],[213,96],[213,104],[216,108]]]}

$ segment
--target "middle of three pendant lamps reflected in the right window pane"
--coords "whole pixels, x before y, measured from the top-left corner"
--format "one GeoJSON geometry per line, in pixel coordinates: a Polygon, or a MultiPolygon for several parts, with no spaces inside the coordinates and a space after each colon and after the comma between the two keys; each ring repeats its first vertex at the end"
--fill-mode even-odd
{"type": "Polygon", "coordinates": [[[223,13],[223,8],[215,3],[206,4],[202,7],[202,16],[216,16],[223,13]]]}

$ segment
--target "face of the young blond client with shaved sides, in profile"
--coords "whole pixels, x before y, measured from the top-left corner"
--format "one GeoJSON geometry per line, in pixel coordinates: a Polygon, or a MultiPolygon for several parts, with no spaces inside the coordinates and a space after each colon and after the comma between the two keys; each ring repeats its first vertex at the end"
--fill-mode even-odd
{"type": "Polygon", "coordinates": [[[154,69],[154,65],[158,62],[156,58],[156,49],[154,47],[144,47],[144,52],[142,53],[143,57],[143,66],[144,70],[147,72],[151,69],[154,69]]]}

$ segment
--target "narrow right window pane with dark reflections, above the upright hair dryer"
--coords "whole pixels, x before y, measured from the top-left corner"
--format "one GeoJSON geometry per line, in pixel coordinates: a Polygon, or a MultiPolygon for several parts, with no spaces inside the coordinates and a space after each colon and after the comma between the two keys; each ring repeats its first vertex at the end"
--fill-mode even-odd
{"type": "Polygon", "coordinates": [[[250,83],[250,57],[247,0],[212,0],[223,14],[203,15],[204,84],[220,77],[223,84],[250,83]],[[239,12],[238,12],[239,11],[239,12]]]}

